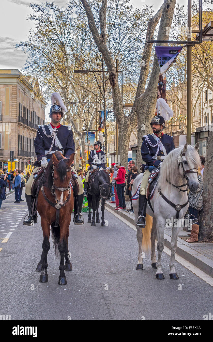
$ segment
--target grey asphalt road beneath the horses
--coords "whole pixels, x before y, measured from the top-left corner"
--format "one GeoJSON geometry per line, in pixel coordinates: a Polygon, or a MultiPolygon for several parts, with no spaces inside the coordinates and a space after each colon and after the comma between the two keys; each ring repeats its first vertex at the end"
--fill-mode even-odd
{"type": "MultiPolygon", "coordinates": [[[[162,253],[165,280],[155,279],[150,255],[144,259],[144,270],[136,271],[136,232],[107,210],[106,227],[71,222],[68,242],[73,271],[65,271],[67,285],[58,285],[59,260],[50,239],[49,282],[39,283],[35,269],[43,241],[40,217],[34,227],[23,226],[26,202],[13,201],[14,194],[3,201],[0,212],[0,314],[42,320],[141,320],[142,316],[145,320],[200,320],[212,312],[213,288],[178,262],[179,280],[170,280],[166,253],[162,253]],[[9,237],[4,235],[8,232],[12,232],[9,237]]],[[[87,214],[83,215],[87,222],[87,214]]]]}

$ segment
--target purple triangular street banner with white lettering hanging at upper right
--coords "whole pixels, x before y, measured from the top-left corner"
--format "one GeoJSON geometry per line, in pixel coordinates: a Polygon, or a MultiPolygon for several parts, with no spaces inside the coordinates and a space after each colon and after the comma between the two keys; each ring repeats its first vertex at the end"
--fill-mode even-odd
{"type": "Polygon", "coordinates": [[[182,50],[182,46],[155,46],[155,52],[158,57],[158,63],[160,66],[160,74],[165,73],[175,58],[182,50]]]}

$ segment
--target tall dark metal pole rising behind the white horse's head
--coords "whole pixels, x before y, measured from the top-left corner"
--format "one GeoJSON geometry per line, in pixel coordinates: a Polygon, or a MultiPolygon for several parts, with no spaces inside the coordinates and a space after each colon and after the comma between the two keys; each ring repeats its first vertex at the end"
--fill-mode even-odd
{"type": "MultiPolygon", "coordinates": [[[[191,0],[188,0],[187,41],[191,42],[191,0]]],[[[191,45],[187,45],[186,141],[191,145],[191,45]]]]}

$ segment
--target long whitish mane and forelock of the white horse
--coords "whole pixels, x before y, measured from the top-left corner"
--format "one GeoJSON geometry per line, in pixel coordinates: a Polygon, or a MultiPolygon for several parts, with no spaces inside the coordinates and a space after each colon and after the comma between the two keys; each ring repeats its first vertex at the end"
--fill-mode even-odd
{"type": "MultiPolygon", "coordinates": [[[[183,184],[183,177],[179,172],[179,161],[183,146],[179,146],[173,149],[164,158],[162,165],[160,167],[160,175],[158,179],[158,188],[161,188],[163,192],[171,192],[171,182],[172,184],[179,186],[183,184]]],[[[186,149],[186,160],[188,162],[189,169],[201,167],[200,157],[197,150],[188,145],[186,149]]],[[[186,182],[184,182],[186,183],[186,182]]]]}

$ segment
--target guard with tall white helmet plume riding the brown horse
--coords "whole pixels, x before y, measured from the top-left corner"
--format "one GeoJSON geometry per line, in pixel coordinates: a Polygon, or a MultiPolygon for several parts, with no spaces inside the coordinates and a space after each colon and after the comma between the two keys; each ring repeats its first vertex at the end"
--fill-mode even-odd
{"type": "MultiPolygon", "coordinates": [[[[51,118],[51,123],[49,123],[48,125],[45,124],[37,126],[38,131],[34,141],[35,152],[37,156],[37,160],[34,163],[34,166],[36,168],[31,173],[25,188],[25,197],[29,210],[29,215],[28,219],[24,220],[23,224],[29,226],[32,225],[32,223],[37,223],[37,214],[31,214],[31,205],[34,201],[31,189],[34,180],[38,176],[38,170],[41,168],[44,168],[44,170],[46,169],[49,161],[52,159],[52,154],[56,151],[61,152],[66,158],[69,158],[72,153],[75,153],[75,143],[73,139],[71,126],[63,126],[60,124],[60,121],[63,118],[64,113],[65,111],[67,111],[67,109],[64,106],[64,103],[59,93],[53,93],[51,100],[52,106],[50,108],[49,114],[49,117],[51,118]]],[[[73,168],[73,164],[71,166],[71,170],[76,173],[76,171],[73,168]]],[[[76,179],[78,179],[77,173],[76,179]]],[[[79,192],[78,195],[75,197],[76,200],[74,205],[74,222],[82,224],[83,221],[81,220],[80,213],[83,203],[83,183],[80,181],[80,179],[78,179],[78,184],[79,192]]]]}

